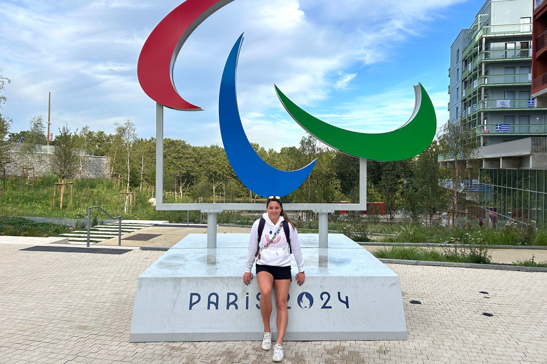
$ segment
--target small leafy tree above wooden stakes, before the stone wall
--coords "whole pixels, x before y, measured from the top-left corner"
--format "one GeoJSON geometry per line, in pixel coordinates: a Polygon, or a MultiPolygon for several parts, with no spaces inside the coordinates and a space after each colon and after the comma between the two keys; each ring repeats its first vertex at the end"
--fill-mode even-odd
{"type": "Polygon", "coordinates": [[[62,180],[73,177],[79,165],[75,135],[71,133],[68,126],[63,126],[59,129],[59,135],[55,139],[52,158],[53,172],[62,180]]]}

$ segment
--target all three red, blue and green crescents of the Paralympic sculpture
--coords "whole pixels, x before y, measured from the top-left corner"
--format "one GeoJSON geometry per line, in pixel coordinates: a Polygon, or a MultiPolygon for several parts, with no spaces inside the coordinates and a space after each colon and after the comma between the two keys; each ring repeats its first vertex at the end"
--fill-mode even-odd
{"type": "MultiPolygon", "coordinates": [[[[183,99],[173,82],[173,66],[179,51],[197,26],[234,0],[187,0],[171,11],[154,28],[139,56],[137,74],[147,95],[165,107],[199,111],[183,99]]],[[[219,124],[224,149],[237,177],[260,196],[286,196],[309,177],[315,160],[296,171],[280,171],[264,162],[254,151],[243,130],[235,88],[237,58],[243,35],[232,48],[219,96],[219,124]],[[270,178],[264,179],[267,175],[270,178]]],[[[347,154],[377,161],[397,161],[414,157],[431,144],[437,129],[433,104],[423,86],[415,86],[415,109],[405,125],[380,133],[358,133],[329,125],[306,113],[275,87],[277,96],[298,124],[321,142],[347,154]]]]}

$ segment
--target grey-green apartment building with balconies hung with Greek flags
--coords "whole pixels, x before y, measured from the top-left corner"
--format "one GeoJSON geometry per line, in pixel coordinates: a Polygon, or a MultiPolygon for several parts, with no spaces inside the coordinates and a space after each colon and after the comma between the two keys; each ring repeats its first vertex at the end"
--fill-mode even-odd
{"type": "Polygon", "coordinates": [[[476,137],[479,211],[498,226],[547,225],[547,107],[531,93],[533,5],[487,0],[450,49],[450,122],[476,137]]]}

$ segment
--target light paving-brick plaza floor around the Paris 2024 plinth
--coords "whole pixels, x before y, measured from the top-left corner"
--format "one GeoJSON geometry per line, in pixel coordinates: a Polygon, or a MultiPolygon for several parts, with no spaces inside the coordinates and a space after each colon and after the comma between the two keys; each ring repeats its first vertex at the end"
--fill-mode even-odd
{"type": "MultiPolygon", "coordinates": [[[[20,250],[28,246],[0,244],[0,363],[272,362],[261,338],[129,342],[137,277],[162,251],[20,250]]],[[[547,362],[547,273],[388,266],[400,276],[408,340],[286,342],[283,362],[547,362]]]]}

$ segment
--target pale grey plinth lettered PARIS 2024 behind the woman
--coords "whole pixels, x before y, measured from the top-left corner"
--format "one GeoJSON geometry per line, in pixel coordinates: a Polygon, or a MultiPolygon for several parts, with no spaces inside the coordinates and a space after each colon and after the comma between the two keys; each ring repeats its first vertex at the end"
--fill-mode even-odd
{"type": "MultiPolygon", "coordinates": [[[[406,339],[397,274],[342,234],[321,249],[317,234],[299,237],[306,282],[296,284],[293,259],[286,340],[406,339]]],[[[207,249],[205,234],[190,234],[138,277],[131,342],[262,338],[257,280],[242,279],[249,235],[217,239],[207,249]]]]}

